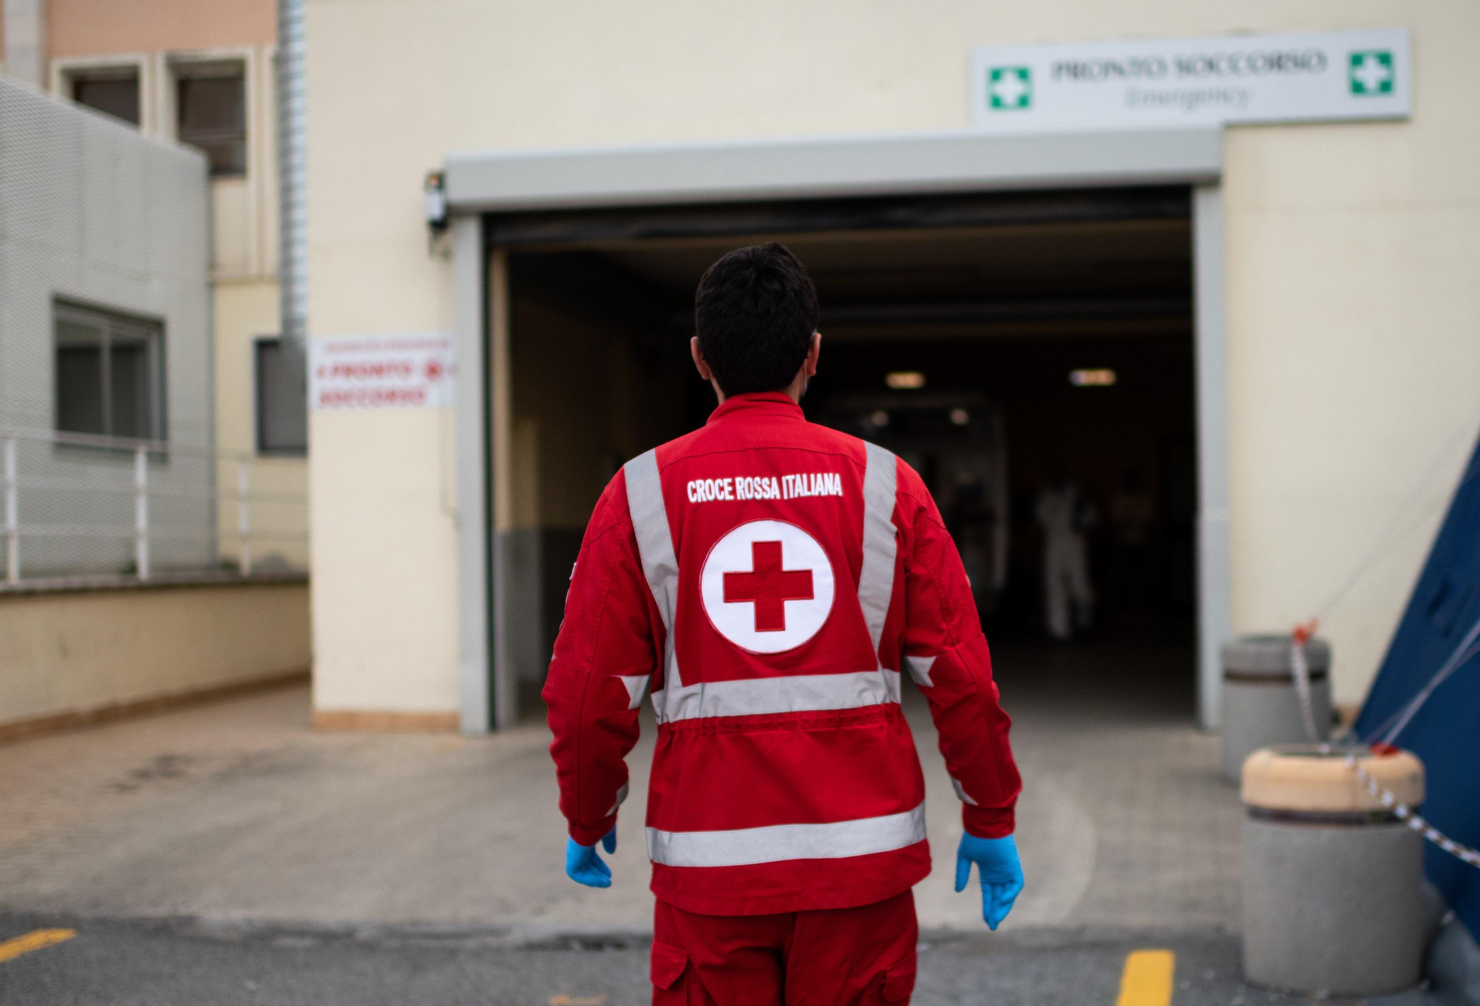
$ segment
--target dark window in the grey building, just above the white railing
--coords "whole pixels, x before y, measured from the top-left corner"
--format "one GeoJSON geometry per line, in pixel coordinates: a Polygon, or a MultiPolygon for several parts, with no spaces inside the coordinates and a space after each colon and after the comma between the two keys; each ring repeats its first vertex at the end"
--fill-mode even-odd
{"type": "Polygon", "coordinates": [[[58,304],[56,428],[164,440],[164,329],[157,322],[58,304]]]}

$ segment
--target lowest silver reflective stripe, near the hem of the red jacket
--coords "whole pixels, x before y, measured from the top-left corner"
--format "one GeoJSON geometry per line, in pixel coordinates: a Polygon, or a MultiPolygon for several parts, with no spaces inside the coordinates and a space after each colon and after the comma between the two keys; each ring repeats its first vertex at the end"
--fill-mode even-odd
{"type": "Polygon", "coordinates": [[[925,839],[925,805],[903,813],[830,824],[731,831],[648,828],[648,858],[665,867],[744,867],[784,859],[844,859],[904,849],[925,839]]]}

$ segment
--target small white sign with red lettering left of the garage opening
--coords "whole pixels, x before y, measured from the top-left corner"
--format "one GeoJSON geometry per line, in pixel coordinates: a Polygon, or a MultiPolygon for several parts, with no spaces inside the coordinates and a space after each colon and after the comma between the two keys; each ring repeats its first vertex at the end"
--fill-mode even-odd
{"type": "Polygon", "coordinates": [[[448,407],[453,336],[410,332],[309,339],[308,402],[318,410],[448,407]]]}

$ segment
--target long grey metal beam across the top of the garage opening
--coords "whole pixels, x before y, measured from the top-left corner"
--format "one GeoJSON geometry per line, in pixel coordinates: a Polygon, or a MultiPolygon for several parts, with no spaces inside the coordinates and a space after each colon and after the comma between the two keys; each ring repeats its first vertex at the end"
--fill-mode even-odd
{"type": "Polygon", "coordinates": [[[977,132],[450,154],[450,209],[511,212],[1215,182],[1217,129],[977,132]]]}

